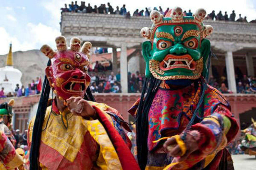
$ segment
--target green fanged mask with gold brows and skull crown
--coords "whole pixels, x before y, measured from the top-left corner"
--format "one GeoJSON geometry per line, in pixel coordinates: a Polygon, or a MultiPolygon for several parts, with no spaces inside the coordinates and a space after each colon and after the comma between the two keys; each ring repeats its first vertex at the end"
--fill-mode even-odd
{"type": "Polygon", "coordinates": [[[186,17],[179,7],[166,17],[158,11],[151,12],[152,27],[141,30],[142,36],[150,40],[142,44],[146,77],[194,80],[206,74],[210,42],[205,37],[213,28],[203,25],[205,15],[206,11],[199,9],[193,17],[186,17]]]}

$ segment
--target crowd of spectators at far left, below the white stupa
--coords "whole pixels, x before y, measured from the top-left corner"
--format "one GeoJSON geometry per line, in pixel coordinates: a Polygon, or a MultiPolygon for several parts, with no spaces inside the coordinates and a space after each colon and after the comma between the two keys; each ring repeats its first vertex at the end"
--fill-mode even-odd
{"type": "Polygon", "coordinates": [[[22,85],[20,87],[19,84],[16,85],[16,88],[13,93],[8,92],[7,94],[4,92],[4,87],[1,88],[0,98],[4,97],[22,97],[22,96],[31,96],[40,94],[42,89],[42,81],[41,77],[37,77],[36,81],[32,80],[26,87],[22,85]]]}

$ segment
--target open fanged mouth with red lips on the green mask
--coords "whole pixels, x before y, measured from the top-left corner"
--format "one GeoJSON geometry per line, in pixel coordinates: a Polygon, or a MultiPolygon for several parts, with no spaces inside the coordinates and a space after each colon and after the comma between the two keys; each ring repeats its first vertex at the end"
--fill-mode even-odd
{"type": "Polygon", "coordinates": [[[174,68],[185,68],[188,70],[195,70],[196,63],[194,59],[186,54],[186,55],[167,55],[163,61],[160,63],[160,69],[163,71],[171,70],[174,68]]]}

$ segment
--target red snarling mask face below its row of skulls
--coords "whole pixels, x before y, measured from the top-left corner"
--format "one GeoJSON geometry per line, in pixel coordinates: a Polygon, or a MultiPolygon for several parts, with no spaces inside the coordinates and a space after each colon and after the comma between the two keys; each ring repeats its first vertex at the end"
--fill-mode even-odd
{"type": "MultiPolygon", "coordinates": [[[[63,36],[56,38],[56,40],[60,39],[63,39],[63,36]]],[[[76,39],[73,38],[73,40],[76,39]]],[[[59,43],[57,47],[58,45],[59,43]]],[[[87,74],[89,59],[85,53],[79,52],[80,47],[76,48],[78,51],[62,50],[64,48],[66,46],[62,46],[61,50],[51,58],[51,65],[45,70],[49,83],[60,99],[66,100],[71,96],[83,97],[91,80],[87,74]]]]}

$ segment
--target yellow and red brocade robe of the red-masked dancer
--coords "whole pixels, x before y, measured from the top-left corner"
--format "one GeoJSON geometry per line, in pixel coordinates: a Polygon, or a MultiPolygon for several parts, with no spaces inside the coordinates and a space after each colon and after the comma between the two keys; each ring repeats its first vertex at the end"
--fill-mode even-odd
{"type": "MultiPolygon", "coordinates": [[[[96,120],[75,116],[67,108],[61,113],[55,102],[47,108],[39,149],[40,168],[139,170],[129,149],[131,141],[115,118],[122,119],[121,115],[105,104],[89,103],[97,111],[96,120]]],[[[28,128],[29,148],[33,125],[34,120],[28,128]]]]}

